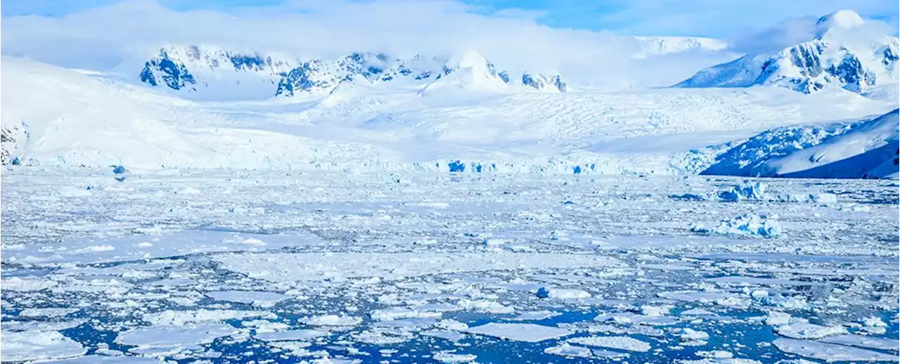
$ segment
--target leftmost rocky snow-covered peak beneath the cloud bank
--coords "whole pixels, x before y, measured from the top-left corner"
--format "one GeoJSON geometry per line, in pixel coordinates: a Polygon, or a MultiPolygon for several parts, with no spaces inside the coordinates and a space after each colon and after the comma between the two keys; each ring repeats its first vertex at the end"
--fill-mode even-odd
{"type": "Polygon", "coordinates": [[[297,64],[295,59],[278,54],[169,46],[144,64],[140,82],[193,99],[266,99],[297,64]]]}

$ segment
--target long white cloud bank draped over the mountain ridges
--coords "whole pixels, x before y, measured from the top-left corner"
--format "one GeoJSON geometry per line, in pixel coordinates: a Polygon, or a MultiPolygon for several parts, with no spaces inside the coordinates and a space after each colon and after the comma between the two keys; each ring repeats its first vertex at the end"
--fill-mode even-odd
{"type": "Polygon", "coordinates": [[[608,31],[554,29],[543,13],[485,14],[452,0],[294,0],[274,7],[174,11],[152,0],[127,0],[62,17],[0,18],[0,53],[64,67],[137,72],[166,44],[215,44],[337,58],[350,51],[453,54],[477,49],[500,67],[560,72],[589,84],[671,84],[723,61],[630,58],[638,44],[608,31]]]}

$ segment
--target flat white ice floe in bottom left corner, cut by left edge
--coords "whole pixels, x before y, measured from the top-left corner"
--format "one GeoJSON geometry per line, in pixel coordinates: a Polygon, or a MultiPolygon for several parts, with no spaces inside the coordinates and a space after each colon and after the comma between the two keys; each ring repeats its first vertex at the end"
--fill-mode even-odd
{"type": "Polygon", "coordinates": [[[55,331],[0,331],[0,362],[64,359],[86,352],[81,344],[55,331]]]}

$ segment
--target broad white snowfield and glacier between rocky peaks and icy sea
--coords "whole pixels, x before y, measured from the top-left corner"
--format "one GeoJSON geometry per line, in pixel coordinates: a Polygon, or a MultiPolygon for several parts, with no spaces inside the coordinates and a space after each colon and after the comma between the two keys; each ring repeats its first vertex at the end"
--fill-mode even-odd
{"type": "Polygon", "coordinates": [[[456,72],[424,90],[354,87],[291,100],[193,102],[0,58],[0,80],[8,85],[0,90],[0,129],[12,136],[0,141],[8,153],[0,163],[697,173],[721,153],[721,143],[773,127],[859,120],[891,110],[889,100],[854,93],[770,88],[546,93],[506,84],[477,53],[455,62],[456,72]]]}

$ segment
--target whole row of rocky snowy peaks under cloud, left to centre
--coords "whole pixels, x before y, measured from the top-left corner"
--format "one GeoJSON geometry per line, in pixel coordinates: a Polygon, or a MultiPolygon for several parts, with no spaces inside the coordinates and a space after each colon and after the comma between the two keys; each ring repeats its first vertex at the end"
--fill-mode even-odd
{"type": "MultiPolygon", "coordinates": [[[[328,94],[354,84],[425,88],[461,67],[460,58],[482,58],[477,52],[457,57],[394,58],[384,53],[354,52],[345,57],[298,62],[283,55],[234,52],[216,47],[166,47],[148,60],[140,81],[194,100],[259,100],[273,96],[328,94]],[[466,56],[469,55],[469,56],[466,56]]],[[[550,92],[566,92],[559,75],[525,72],[510,75],[487,59],[491,77],[503,84],[550,92]]],[[[498,90],[494,90],[498,91],[498,90]]]]}

